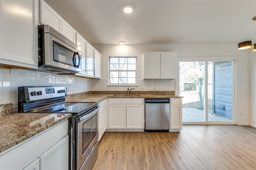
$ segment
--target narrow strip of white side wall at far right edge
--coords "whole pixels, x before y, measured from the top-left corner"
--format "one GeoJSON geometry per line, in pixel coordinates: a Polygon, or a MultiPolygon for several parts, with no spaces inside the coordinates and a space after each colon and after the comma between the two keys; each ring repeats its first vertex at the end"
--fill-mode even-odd
{"type": "Polygon", "coordinates": [[[250,126],[256,127],[256,53],[250,52],[250,126]]]}

